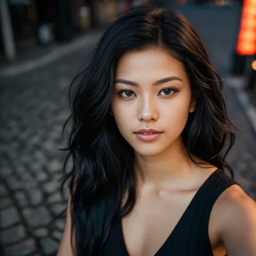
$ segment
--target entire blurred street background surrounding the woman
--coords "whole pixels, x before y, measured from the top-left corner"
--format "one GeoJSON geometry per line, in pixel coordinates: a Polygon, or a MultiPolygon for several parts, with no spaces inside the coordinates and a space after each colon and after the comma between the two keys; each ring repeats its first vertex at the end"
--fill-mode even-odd
{"type": "MultiPolygon", "coordinates": [[[[66,96],[106,26],[140,0],[1,0],[0,255],[56,255],[66,96]]],[[[256,200],[256,2],[155,0],[198,31],[224,79],[228,114],[244,129],[227,158],[256,200]]]]}

